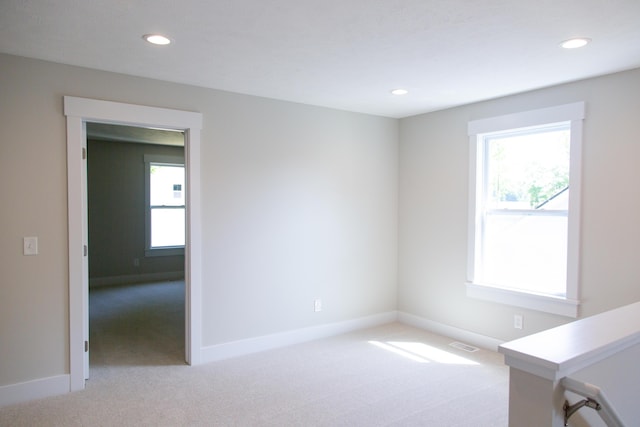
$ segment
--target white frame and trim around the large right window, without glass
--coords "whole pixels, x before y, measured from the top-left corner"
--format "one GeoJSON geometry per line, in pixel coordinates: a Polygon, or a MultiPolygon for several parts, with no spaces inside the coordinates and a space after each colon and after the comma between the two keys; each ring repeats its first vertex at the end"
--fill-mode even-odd
{"type": "Polygon", "coordinates": [[[501,304],[529,308],[547,313],[576,318],[580,301],[579,269],[580,269],[580,195],[582,176],[582,124],[585,116],[585,103],[559,105],[521,113],[508,114],[470,121],[469,135],[469,227],[467,254],[467,296],[501,304]],[[475,280],[476,254],[479,251],[477,238],[480,223],[480,212],[477,200],[481,194],[477,172],[482,161],[480,144],[484,134],[499,131],[526,129],[527,127],[551,125],[570,122],[570,172],[569,181],[569,213],[567,230],[567,282],[566,296],[536,294],[516,289],[500,288],[475,280]]]}

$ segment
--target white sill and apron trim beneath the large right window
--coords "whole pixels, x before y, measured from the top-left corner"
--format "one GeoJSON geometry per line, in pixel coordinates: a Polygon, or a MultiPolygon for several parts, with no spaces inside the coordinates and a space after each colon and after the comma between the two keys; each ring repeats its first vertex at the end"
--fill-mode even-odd
{"type": "Polygon", "coordinates": [[[500,304],[543,311],[560,316],[578,317],[580,301],[553,297],[548,295],[519,292],[512,289],[497,288],[495,286],[479,285],[467,282],[467,296],[500,304]]]}

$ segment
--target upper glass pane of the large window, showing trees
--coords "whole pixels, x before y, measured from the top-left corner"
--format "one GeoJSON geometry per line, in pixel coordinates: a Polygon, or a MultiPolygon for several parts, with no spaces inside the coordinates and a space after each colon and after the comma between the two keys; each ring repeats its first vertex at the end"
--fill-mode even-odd
{"type": "Polygon", "coordinates": [[[569,186],[569,137],[568,125],[487,137],[487,208],[550,209],[569,186]]]}

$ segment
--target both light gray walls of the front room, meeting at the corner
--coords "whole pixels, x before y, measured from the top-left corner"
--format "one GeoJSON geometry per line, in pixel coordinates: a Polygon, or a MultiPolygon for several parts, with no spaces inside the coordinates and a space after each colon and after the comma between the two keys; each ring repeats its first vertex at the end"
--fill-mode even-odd
{"type": "Polygon", "coordinates": [[[581,315],[639,300],[639,87],[633,70],[398,121],[0,55],[0,385],[69,372],[64,95],[203,114],[209,346],[396,309],[500,340],[569,321],[465,296],[466,129],[582,100],[581,315]]]}

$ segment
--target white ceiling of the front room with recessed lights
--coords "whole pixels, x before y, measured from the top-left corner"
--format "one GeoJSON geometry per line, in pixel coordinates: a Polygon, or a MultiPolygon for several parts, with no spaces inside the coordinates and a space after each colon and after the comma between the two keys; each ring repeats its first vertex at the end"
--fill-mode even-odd
{"type": "Polygon", "coordinates": [[[2,0],[0,52],[405,117],[640,67],[640,0],[2,0]]]}

